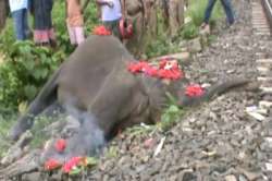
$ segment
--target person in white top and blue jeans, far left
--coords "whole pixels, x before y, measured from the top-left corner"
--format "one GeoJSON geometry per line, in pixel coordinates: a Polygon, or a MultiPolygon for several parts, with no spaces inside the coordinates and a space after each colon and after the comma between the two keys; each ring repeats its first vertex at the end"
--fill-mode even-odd
{"type": "Polygon", "coordinates": [[[27,0],[9,0],[12,19],[14,21],[14,29],[17,40],[25,40],[29,35],[27,23],[27,0]]]}

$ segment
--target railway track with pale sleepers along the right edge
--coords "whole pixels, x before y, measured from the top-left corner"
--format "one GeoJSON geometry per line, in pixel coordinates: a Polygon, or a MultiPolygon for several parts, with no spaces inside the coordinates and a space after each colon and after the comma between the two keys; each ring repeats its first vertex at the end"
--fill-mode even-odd
{"type": "MultiPolygon", "coordinates": [[[[271,41],[272,29],[272,0],[256,0],[252,5],[252,31],[261,39],[271,41]]],[[[272,47],[271,47],[272,48],[272,47]]],[[[261,96],[259,104],[251,107],[247,112],[259,121],[269,121],[272,111],[272,57],[265,57],[264,52],[256,53],[256,68],[258,71],[257,81],[260,83],[261,96]]],[[[272,135],[264,135],[263,143],[272,147],[272,135]]],[[[269,172],[272,171],[272,156],[263,162],[263,171],[268,177],[264,180],[272,180],[269,172]]]]}

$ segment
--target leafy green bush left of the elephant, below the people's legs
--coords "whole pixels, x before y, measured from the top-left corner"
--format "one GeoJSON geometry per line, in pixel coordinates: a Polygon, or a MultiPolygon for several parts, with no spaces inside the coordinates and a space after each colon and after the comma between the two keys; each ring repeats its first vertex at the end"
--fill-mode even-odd
{"type": "MultiPolygon", "coordinates": [[[[0,48],[5,47],[0,45],[0,48]]],[[[11,44],[5,57],[0,67],[0,101],[12,108],[32,100],[63,60],[62,53],[36,47],[32,41],[11,44]]]]}

